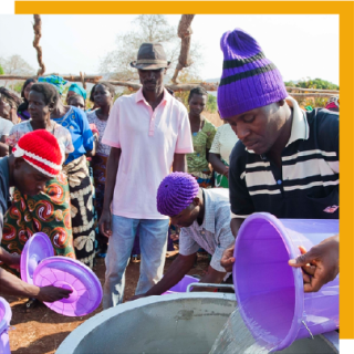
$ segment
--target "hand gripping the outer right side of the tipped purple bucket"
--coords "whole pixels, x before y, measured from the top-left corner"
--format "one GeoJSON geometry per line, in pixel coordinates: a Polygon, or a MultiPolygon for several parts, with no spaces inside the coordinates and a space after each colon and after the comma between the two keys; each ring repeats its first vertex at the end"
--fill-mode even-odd
{"type": "Polygon", "coordinates": [[[309,252],[300,247],[302,256],[291,259],[289,266],[301,267],[304,292],[316,292],[334,280],[340,272],[340,236],[333,236],[314,246],[309,252]]]}

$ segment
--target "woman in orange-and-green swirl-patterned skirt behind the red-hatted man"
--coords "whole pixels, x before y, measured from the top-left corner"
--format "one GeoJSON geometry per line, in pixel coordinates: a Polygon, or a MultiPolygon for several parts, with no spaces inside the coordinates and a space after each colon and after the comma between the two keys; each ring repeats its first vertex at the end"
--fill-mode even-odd
{"type": "MultiPolygon", "coordinates": [[[[30,132],[45,129],[58,139],[61,148],[60,164],[73,152],[69,131],[51,121],[51,111],[59,100],[56,90],[50,84],[33,84],[29,94],[31,118],[12,127],[7,144],[18,154],[15,145],[30,132]]],[[[37,144],[37,142],[33,142],[37,144]]],[[[6,216],[1,246],[10,253],[20,254],[27,240],[35,232],[45,232],[56,256],[75,259],[71,226],[70,190],[63,173],[53,176],[45,188],[35,196],[27,196],[14,188],[13,201],[6,216]],[[21,222],[19,222],[19,218],[21,222]]],[[[13,270],[12,270],[13,272],[13,270]]]]}

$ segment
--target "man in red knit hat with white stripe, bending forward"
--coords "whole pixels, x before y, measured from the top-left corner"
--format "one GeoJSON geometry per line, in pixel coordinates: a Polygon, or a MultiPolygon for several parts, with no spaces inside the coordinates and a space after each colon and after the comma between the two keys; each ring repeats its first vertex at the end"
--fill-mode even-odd
{"type": "MultiPolygon", "coordinates": [[[[7,211],[9,188],[17,187],[25,195],[37,195],[45,183],[61,170],[62,155],[56,138],[45,129],[23,135],[10,156],[0,158],[0,242],[3,216],[7,211]]],[[[0,261],[11,267],[20,266],[20,258],[0,247],[0,261]]],[[[21,281],[0,268],[0,293],[34,298],[54,302],[67,299],[71,290],[55,287],[39,288],[21,281]]]]}

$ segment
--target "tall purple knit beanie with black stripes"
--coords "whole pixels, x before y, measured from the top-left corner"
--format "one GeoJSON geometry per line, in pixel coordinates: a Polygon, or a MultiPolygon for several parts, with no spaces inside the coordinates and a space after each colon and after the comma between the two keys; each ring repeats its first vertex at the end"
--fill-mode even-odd
{"type": "Polygon", "coordinates": [[[221,118],[267,106],[288,96],[279,70],[248,33],[241,29],[226,32],[220,46],[223,52],[218,87],[221,118]]]}

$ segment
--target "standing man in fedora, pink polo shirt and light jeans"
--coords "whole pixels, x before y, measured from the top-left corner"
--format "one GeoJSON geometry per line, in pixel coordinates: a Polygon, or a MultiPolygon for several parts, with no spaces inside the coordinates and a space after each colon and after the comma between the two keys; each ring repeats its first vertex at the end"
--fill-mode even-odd
{"type": "Polygon", "coordinates": [[[100,219],[101,231],[110,238],[104,309],[123,301],[137,227],[142,263],[135,294],[160,280],[169,220],[157,211],[157,189],[171,167],[187,171],[185,155],[194,152],[187,110],[164,87],[170,62],[162,44],[143,43],[131,65],[138,70],[143,87],[114,103],[102,139],[112,147],[100,219]]]}

